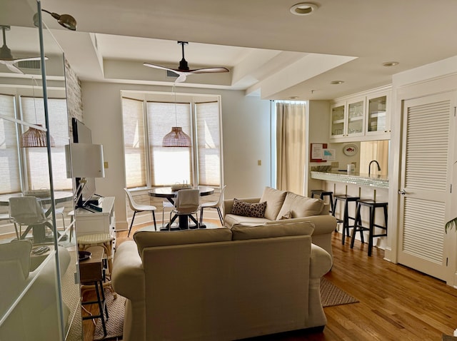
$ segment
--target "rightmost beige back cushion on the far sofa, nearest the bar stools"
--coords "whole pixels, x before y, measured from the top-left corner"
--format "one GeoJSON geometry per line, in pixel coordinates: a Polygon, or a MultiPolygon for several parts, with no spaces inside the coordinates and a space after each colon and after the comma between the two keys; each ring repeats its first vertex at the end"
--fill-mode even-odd
{"type": "Polygon", "coordinates": [[[307,198],[302,195],[288,192],[276,220],[280,220],[288,211],[291,211],[291,218],[304,218],[311,215],[319,215],[321,214],[322,209],[323,200],[307,198]]]}

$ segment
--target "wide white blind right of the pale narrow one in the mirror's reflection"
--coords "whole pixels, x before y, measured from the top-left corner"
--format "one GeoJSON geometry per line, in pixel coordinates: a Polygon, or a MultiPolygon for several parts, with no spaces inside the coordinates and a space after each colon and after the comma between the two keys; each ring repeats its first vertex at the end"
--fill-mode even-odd
{"type": "MultiPolygon", "coordinates": [[[[24,121],[45,126],[43,98],[21,97],[21,111],[24,121]]],[[[66,178],[64,148],[69,143],[66,100],[48,98],[48,113],[49,133],[56,143],[56,146],[51,148],[54,189],[69,190],[72,185],[71,179],[66,178]]],[[[46,148],[24,148],[24,151],[29,189],[49,188],[49,167],[46,148]]]]}

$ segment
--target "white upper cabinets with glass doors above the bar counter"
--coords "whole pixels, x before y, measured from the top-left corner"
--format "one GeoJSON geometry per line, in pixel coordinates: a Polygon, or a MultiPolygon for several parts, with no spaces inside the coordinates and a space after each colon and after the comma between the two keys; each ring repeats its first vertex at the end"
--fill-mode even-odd
{"type": "Polygon", "coordinates": [[[331,142],[390,138],[388,91],[336,101],[331,106],[331,142]]]}

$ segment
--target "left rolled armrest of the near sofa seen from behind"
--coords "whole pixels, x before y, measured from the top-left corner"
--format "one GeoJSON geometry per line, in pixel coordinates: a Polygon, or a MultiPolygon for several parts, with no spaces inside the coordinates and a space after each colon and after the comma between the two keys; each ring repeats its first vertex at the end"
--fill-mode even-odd
{"type": "Polygon", "coordinates": [[[146,299],[143,263],[133,240],[127,240],[116,248],[111,284],[114,291],[129,300],[146,299]]]}

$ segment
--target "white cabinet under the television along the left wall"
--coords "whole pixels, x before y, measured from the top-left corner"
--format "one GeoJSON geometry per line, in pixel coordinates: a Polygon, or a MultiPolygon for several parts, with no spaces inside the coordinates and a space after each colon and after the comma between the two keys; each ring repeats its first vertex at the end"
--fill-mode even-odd
{"type": "Polygon", "coordinates": [[[76,209],[76,235],[92,233],[109,233],[116,245],[116,216],[114,214],[114,197],[104,197],[101,202],[101,212],[89,211],[84,208],[76,209]]]}

